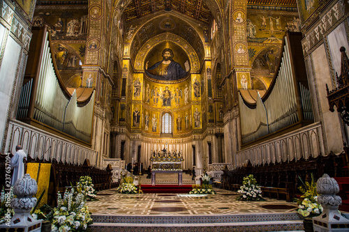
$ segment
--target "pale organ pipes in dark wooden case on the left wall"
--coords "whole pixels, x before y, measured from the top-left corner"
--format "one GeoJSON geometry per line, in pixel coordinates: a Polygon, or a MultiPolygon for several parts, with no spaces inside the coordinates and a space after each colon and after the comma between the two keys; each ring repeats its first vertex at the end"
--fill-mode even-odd
{"type": "Polygon", "coordinates": [[[52,59],[49,31],[46,28],[34,29],[33,33],[41,44],[34,44],[29,51],[29,59],[36,63],[29,62],[26,69],[17,118],[30,124],[47,125],[50,130],[58,130],[89,143],[94,89],[89,90],[91,95],[85,102],[78,102],[76,90],[69,93],[52,59]]]}

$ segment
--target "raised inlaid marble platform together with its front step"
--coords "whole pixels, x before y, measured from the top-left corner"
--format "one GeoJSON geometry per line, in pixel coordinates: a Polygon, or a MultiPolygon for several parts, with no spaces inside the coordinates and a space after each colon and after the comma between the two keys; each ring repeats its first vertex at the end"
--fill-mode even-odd
{"type": "MultiPolygon", "coordinates": [[[[161,185],[160,185],[161,187],[161,185]]],[[[175,186],[172,186],[175,187],[175,186]]],[[[91,231],[302,231],[297,203],[237,201],[239,194],[119,194],[98,192],[87,203],[91,231]]]]}

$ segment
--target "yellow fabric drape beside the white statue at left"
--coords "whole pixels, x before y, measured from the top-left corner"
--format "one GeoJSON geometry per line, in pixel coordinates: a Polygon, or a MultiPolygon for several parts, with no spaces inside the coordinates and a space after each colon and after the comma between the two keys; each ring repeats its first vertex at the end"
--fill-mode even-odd
{"type": "Polygon", "coordinates": [[[38,199],[43,193],[43,190],[45,190],[45,194],[43,195],[43,198],[38,205],[38,208],[40,208],[41,206],[45,205],[45,203],[47,203],[48,187],[50,185],[51,164],[40,164],[40,170],[38,170],[39,163],[27,164],[27,173],[29,173],[31,178],[36,180],[36,182],[38,183],[38,192],[36,193],[35,197],[38,199]]]}

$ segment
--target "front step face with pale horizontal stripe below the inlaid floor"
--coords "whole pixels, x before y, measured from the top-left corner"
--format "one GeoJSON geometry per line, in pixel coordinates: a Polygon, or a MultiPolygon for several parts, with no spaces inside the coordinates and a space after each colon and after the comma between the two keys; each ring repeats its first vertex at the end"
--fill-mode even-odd
{"type": "Polygon", "coordinates": [[[248,215],[92,215],[91,231],[302,231],[297,213],[248,215]]]}

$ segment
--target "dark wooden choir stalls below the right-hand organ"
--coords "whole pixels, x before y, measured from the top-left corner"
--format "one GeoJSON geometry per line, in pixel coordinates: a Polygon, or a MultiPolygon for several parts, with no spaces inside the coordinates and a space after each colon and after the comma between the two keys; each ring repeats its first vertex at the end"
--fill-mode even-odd
{"type": "MultiPolygon", "coordinates": [[[[242,185],[245,176],[253,174],[257,183],[262,187],[262,196],[285,199],[292,201],[299,192],[298,187],[302,185],[302,180],[311,180],[311,173],[315,179],[329,173],[329,176],[336,176],[342,173],[338,170],[339,162],[342,160],[340,155],[329,153],[327,156],[309,157],[308,160],[291,160],[290,162],[279,162],[276,164],[264,164],[261,166],[252,166],[247,162],[245,167],[229,171],[223,170],[222,187],[225,190],[237,191],[242,185]]],[[[343,165],[342,165],[343,166],[343,165]]]]}

